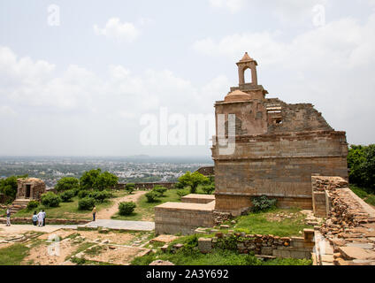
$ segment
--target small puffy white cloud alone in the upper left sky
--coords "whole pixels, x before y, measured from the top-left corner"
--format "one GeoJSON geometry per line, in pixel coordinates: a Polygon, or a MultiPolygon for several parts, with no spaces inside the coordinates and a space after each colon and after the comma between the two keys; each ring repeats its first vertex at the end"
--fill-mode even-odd
{"type": "Polygon", "coordinates": [[[134,27],[133,23],[121,23],[119,18],[108,19],[103,28],[94,25],[94,31],[96,34],[126,42],[134,42],[140,34],[140,31],[134,27]]]}

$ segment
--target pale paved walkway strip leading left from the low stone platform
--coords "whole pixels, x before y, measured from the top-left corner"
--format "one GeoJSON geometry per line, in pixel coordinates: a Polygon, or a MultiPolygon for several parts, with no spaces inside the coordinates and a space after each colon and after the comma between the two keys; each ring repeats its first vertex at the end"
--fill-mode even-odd
{"type": "Polygon", "coordinates": [[[149,221],[127,221],[127,220],[111,220],[111,219],[97,219],[88,224],[80,225],[80,227],[103,227],[114,230],[133,230],[133,231],[152,231],[155,229],[155,222],[149,221]]]}

